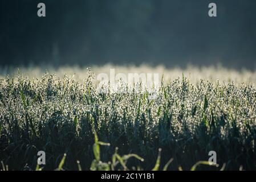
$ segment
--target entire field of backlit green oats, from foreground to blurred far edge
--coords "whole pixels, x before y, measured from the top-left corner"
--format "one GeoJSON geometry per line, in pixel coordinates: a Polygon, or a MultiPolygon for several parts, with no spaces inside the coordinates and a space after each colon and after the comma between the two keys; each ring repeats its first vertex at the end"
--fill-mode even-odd
{"type": "Polygon", "coordinates": [[[255,72],[116,67],[164,74],[150,97],[99,92],[109,68],[0,68],[0,169],[34,170],[38,151],[43,170],[189,170],[209,151],[219,165],[197,169],[256,169],[255,72]]]}

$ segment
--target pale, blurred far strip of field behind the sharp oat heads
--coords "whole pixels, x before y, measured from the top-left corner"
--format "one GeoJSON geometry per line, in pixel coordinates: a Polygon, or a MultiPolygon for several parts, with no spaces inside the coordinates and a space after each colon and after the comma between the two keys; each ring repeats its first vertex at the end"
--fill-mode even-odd
{"type": "Polygon", "coordinates": [[[157,73],[159,75],[159,80],[161,77],[164,77],[165,82],[173,81],[177,78],[182,78],[183,76],[187,77],[190,82],[193,84],[200,83],[200,80],[207,80],[210,82],[219,81],[220,84],[223,83],[231,83],[233,82],[235,85],[247,84],[247,85],[256,85],[256,71],[250,71],[248,69],[242,69],[240,71],[236,69],[229,69],[222,67],[221,65],[212,66],[212,67],[197,67],[193,65],[188,65],[186,68],[174,67],[174,68],[165,68],[164,65],[158,65],[155,67],[149,65],[113,65],[113,64],[105,64],[102,66],[91,65],[88,67],[79,67],[79,66],[66,66],[66,67],[51,67],[51,66],[42,66],[42,67],[0,67],[0,76],[15,76],[17,73],[22,73],[23,76],[27,76],[30,79],[32,78],[41,78],[44,73],[48,74],[56,74],[58,77],[63,77],[67,75],[68,77],[72,77],[77,81],[83,82],[87,77],[88,69],[95,75],[95,79],[100,73],[105,73],[108,75],[111,72],[111,69],[114,69],[115,76],[118,73],[124,73],[128,77],[129,73],[157,73]]]}

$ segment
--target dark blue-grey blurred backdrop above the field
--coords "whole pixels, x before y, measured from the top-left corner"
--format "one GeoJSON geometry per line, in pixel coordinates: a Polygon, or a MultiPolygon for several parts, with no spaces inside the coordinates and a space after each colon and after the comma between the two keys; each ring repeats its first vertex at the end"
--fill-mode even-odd
{"type": "Polygon", "coordinates": [[[255,10],[255,0],[1,0],[0,65],[255,69],[255,10]]]}

